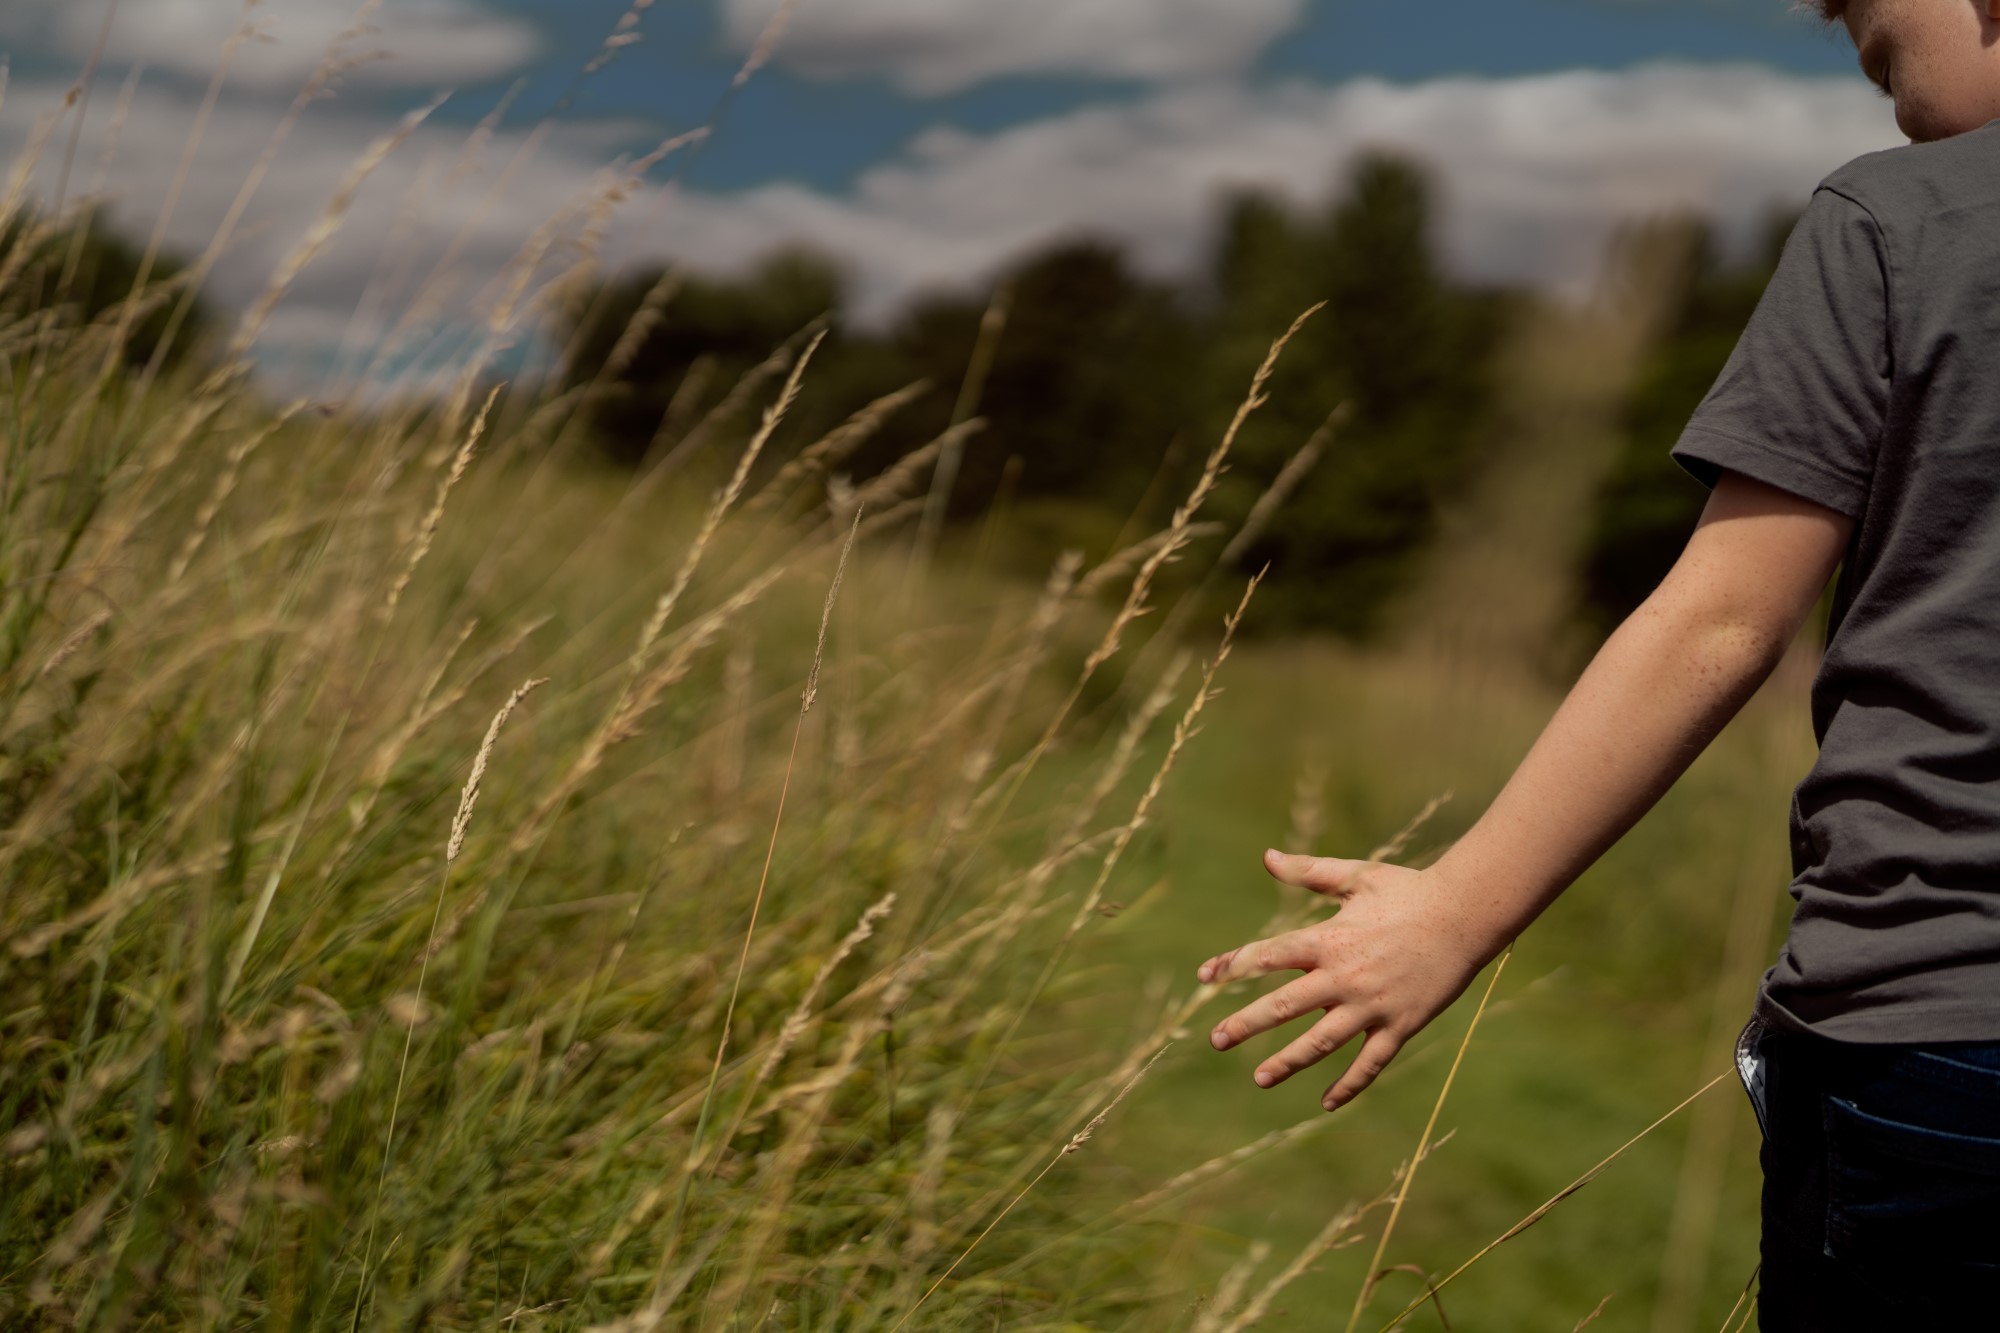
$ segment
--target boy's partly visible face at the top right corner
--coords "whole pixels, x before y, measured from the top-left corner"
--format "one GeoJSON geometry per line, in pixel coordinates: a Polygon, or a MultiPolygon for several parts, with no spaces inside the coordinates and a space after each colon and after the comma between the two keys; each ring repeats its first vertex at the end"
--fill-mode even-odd
{"type": "Polygon", "coordinates": [[[2000,118],[2000,0],[1850,0],[1840,18],[1912,140],[2000,118]]]}

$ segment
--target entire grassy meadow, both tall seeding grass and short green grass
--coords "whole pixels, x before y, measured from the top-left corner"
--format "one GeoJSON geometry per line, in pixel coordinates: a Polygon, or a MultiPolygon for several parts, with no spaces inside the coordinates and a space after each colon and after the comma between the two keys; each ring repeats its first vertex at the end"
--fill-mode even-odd
{"type": "Polygon", "coordinates": [[[262,302],[128,364],[184,294],[0,324],[8,1327],[1748,1317],[1720,1077],[1808,646],[1354,1107],[1256,1091],[1194,981],[1320,911],[1262,847],[1434,855],[1550,713],[1642,312],[1522,332],[1508,466],[1356,648],[1236,636],[1262,372],[1158,532],[1024,554],[924,524],[966,426],[858,482],[894,402],[786,432],[810,330],[620,472],[592,384],[478,354],[270,400],[262,302]]]}

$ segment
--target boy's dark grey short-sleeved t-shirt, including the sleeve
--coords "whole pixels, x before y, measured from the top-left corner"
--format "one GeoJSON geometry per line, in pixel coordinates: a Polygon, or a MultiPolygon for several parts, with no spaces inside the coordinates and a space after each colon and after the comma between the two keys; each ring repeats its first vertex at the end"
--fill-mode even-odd
{"type": "Polygon", "coordinates": [[[2000,1041],[2000,120],[1820,184],[1674,456],[1856,520],[1758,1011],[2000,1041]]]}

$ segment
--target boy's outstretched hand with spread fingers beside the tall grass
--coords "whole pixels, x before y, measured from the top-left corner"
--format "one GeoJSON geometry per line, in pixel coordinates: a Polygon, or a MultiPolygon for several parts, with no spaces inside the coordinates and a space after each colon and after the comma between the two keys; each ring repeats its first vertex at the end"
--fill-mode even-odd
{"type": "Polygon", "coordinates": [[[1320,1099],[1328,1111],[1374,1083],[1410,1037],[1444,1013],[1506,943],[1490,941],[1468,917],[1464,897],[1430,871],[1338,857],[1264,853],[1264,869],[1286,885],[1340,903],[1318,925],[1208,959],[1208,985],[1300,971],[1238,1009],[1210,1033],[1216,1051],[1322,1013],[1288,1047],[1256,1069],[1258,1087],[1276,1087],[1356,1037],[1360,1055],[1320,1099]]]}

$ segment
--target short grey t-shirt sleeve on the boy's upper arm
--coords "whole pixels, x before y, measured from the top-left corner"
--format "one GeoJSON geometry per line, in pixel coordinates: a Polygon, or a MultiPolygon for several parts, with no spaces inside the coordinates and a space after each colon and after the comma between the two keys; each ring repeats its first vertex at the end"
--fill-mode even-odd
{"type": "Polygon", "coordinates": [[[1858,518],[1888,416],[1888,296],[1882,230],[1822,186],[1674,460],[1704,486],[1742,472],[1858,518]]]}

